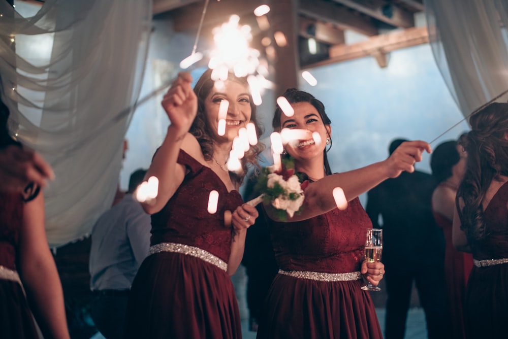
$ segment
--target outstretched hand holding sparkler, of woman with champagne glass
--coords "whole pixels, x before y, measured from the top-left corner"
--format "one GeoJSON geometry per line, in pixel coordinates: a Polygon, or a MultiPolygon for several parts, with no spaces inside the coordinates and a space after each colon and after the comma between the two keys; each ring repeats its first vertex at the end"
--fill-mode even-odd
{"type": "Polygon", "coordinates": [[[396,178],[403,171],[409,173],[415,172],[415,163],[422,161],[423,151],[427,151],[427,153],[432,152],[430,144],[425,141],[406,141],[400,144],[390,157],[385,160],[388,176],[396,178]]]}

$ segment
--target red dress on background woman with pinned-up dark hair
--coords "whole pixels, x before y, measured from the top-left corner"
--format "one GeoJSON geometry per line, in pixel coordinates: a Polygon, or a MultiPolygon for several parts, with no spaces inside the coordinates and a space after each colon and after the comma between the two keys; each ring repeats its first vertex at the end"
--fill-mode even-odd
{"type": "Polygon", "coordinates": [[[469,274],[473,267],[473,257],[470,253],[460,252],[453,247],[452,220],[438,212],[432,211],[434,219],[442,228],[446,247],[444,250],[444,276],[447,284],[447,294],[451,312],[451,331],[453,339],[464,339],[464,298],[469,274]]]}

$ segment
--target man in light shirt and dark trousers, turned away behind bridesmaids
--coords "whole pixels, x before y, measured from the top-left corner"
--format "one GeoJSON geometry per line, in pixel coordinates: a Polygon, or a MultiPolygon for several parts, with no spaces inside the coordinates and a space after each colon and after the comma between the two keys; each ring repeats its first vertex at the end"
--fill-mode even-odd
{"type": "Polygon", "coordinates": [[[129,191],[94,225],[90,249],[91,317],[107,339],[123,338],[131,284],[150,248],[150,216],[133,197],[145,169],[131,174],[129,191]]]}

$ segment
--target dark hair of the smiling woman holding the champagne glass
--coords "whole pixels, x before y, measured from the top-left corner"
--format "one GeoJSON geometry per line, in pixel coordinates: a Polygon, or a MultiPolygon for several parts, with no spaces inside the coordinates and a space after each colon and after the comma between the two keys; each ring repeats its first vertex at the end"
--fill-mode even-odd
{"type": "MultiPolygon", "coordinates": [[[[309,103],[310,105],[314,106],[314,108],[317,110],[317,113],[319,113],[321,120],[323,120],[323,123],[325,125],[331,125],[332,121],[328,117],[328,115],[325,112],[325,105],[323,103],[316,99],[312,94],[300,91],[296,88],[288,88],[284,94],[282,94],[283,97],[285,97],[290,104],[296,104],[296,103],[309,103]]],[[[280,131],[280,116],[282,114],[282,110],[280,107],[277,106],[275,109],[275,113],[273,114],[273,120],[272,120],[272,127],[276,131],[280,131]]],[[[325,147],[325,150],[323,151],[323,157],[325,162],[325,173],[326,175],[331,175],[332,171],[330,169],[330,164],[328,163],[328,156],[327,153],[332,147],[331,144],[331,135],[328,133],[328,130],[326,131],[326,134],[328,135],[328,138],[330,138],[330,147],[328,149],[325,147]]]]}

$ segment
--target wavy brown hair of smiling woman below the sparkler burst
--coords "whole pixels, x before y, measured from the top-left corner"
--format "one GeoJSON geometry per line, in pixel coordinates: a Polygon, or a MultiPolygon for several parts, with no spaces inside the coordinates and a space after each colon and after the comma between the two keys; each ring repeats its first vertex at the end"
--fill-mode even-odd
{"type": "MultiPolygon", "coordinates": [[[[208,123],[205,112],[205,99],[207,98],[208,94],[210,94],[210,91],[215,84],[215,81],[211,78],[211,74],[212,70],[208,69],[205,71],[205,73],[203,73],[203,75],[199,78],[196,86],[194,86],[194,92],[198,97],[198,113],[196,114],[196,118],[194,119],[194,122],[189,129],[189,132],[193,134],[194,137],[196,137],[198,140],[201,146],[201,152],[203,152],[205,160],[210,160],[213,157],[213,143],[214,137],[216,135],[216,131],[212,130],[208,123]]],[[[236,77],[234,74],[229,73],[228,80],[236,81],[249,88],[247,78],[236,77]]],[[[256,126],[256,133],[258,134],[259,140],[263,134],[263,127],[258,122],[256,105],[254,105],[252,102],[252,98],[249,102],[251,109],[250,121],[256,126]]],[[[242,171],[240,173],[230,172],[231,178],[241,184],[249,168],[254,167],[255,171],[259,171],[261,166],[258,162],[258,157],[264,148],[265,146],[260,142],[258,142],[257,145],[251,146],[249,150],[245,152],[245,156],[240,160],[242,164],[242,171]]]]}

